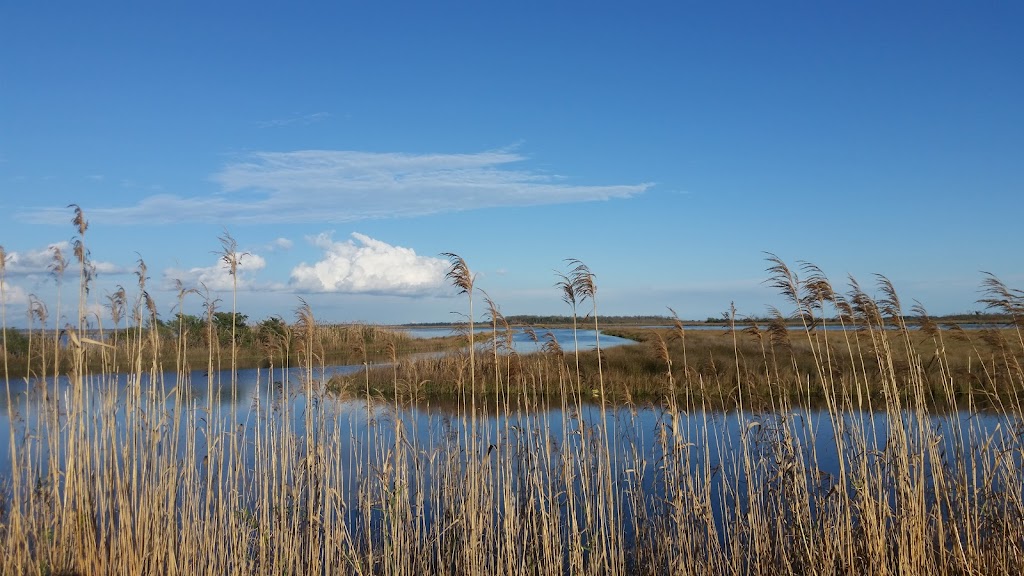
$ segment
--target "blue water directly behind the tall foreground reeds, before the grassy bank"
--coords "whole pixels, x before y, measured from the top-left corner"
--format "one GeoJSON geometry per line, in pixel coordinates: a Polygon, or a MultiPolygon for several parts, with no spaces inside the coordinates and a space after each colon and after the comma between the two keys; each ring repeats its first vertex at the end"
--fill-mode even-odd
{"type": "MultiPolygon", "coordinates": [[[[602,338],[602,345],[603,345],[602,338]]],[[[532,343],[532,342],[529,342],[532,343]]],[[[287,421],[298,436],[304,434],[303,417],[310,409],[303,384],[309,377],[325,382],[336,374],[350,374],[360,366],[327,366],[311,371],[300,368],[247,369],[233,374],[229,371],[207,374],[191,371],[181,381],[173,372],[141,376],[86,376],[90,405],[97,412],[108,406],[115,426],[125,425],[124,405],[128,395],[137,394],[150,410],[163,410],[193,422],[229,422],[251,440],[268,423],[287,421]],[[147,400],[146,400],[147,399],[147,400]],[[211,402],[212,401],[212,402],[211,402]],[[110,406],[114,406],[113,412],[110,406]],[[287,415],[287,417],[286,417],[287,415]]],[[[0,392],[0,439],[12,438],[18,444],[39,435],[50,434],[40,426],[42,410],[56,410],[66,417],[69,396],[67,378],[55,383],[52,379],[13,379],[7,383],[8,395],[0,392]]],[[[329,393],[313,397],[313,408],[329,428],[339,431],[342,446],[338,457],[362,458],[368,451],[387,448],[394,442],[396,424],[411,435],[422,450],[434,450],[439,443],[450,445],[455,440],[457,450],[466,452],[468,441],[476,437],[478,444],[494,448],[504,446],[506,453],[520,447],[536,446],[542,436],[552,443],[554,452],[580,450],[584,442],[582,430],[599,427],[607,438],[607,446],[617,462],[617,478],[623,483],[650,482],[656,477],[657,461],[681,443],[692,455],[694,471],[720,469],[741,453],[757,458],[771,458],[772,447],[780,438],[795,438],[806,452],[804,464],[819,478],[835,478],[840,472],[846,438],[854,430],[866,437],[868,449],[885,450],[892,440],[892,416],[886,412],[851,411],[839,416],[824,409],[790,409],[781,413],[700,410],[668,410],[663,406],[610,406],[603,412],[596,403],[544,400],[530,405],[513,404],[511,409],[501,399],[482,400],[477,417],[470,429],[465,418],[466,406],[457,401],[422,400],[417,404],[378,400],[338,398],[329,393]],[[559,431],[561,430],[561,431],[559,431]],[[671,438],[675,430],[675,440],[671,438]],[[564,434],[563,434],[564,433],[564,434]],[[649,466],[637,469],[637,464],[649,466]]],[[[98,422],[97,422],[98,423],[98,422]]],[[[106,422],[109,424],[109,422],[106,422]]],[[[974,444],[994,436],[1021,436],[1021,419],[1015,415],[950,411],[928,416],[924,421],[905,415],[904,426],[927,428],[929,438],[941,439],[951,454],[964,456],[974,444]]],[[[206,430],[207,433],[211,430],[206,430]]],[[[186,434],[180,433],[176,443],[184,450],[186,434]]],[[[204,448],[197,450],[202,457],[204,448]]],[[[489,450],[488,450],[489,454],[489,450]]],[[[10,474],[10,451],[0,451],[0,479],[10,474]]],[[[355,479],[352,479],[353,481],[355,479]]]]}

